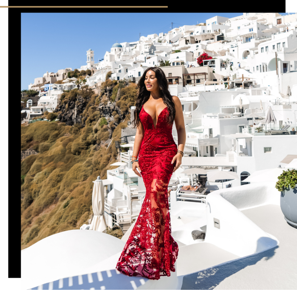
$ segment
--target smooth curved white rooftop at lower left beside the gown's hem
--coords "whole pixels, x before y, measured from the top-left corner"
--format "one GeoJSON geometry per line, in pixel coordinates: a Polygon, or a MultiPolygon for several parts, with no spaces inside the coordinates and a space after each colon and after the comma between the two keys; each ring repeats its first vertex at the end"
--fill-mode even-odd
{"type": "Polygon", "coordinates": [[[88,273],[91,266],[117,253],[120,256],[124,245],[119,238],[94,230],[48,236],[21,251],[22,289],[88,273]]]}

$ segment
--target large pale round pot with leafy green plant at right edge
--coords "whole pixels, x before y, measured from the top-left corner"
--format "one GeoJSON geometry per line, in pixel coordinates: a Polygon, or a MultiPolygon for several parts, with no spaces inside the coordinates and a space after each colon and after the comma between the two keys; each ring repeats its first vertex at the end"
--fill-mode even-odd
{"type": "Polygon", "coordinates": [[[282,171],[275,185],[280,195],[280,207],[288,224],[297,228],[297,170],[282,171]]]}

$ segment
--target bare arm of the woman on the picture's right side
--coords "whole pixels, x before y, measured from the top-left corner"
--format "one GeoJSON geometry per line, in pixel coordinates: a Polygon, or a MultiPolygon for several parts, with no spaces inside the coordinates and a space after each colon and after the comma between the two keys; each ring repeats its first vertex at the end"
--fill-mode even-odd
{"type": "MultiPolygon", "coordinates": [[[[178,99],[177,96],[172,97],[172,101],[175,105],[175,127],[177,131],[177,139],[178,139],[178,149],[179,151],[184,152],[184,147],[186,144],[186,129],[185,129],[185,123],[184,123],[184,113],[183,108],[181,106],[181,101],[178,99]]],[[[173,169],[173,172],[178,169],[178,167],[181,165],[181,158],[182,154],[178,153],[173,157],[171,164],[173,164],[174,160],[176,160],[176,166],[173,169]]]]}

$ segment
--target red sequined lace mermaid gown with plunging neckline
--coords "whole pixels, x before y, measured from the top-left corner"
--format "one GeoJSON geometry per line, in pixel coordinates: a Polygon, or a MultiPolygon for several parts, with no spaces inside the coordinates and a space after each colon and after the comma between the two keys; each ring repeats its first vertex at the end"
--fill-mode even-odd
{"type": "Polygon", "coordinates": [[[146,187],[137,222],[119,258],[116,269],[128,276],[143,276],[152,280],[170,276],[178,245],[171,236],[167,187],[173,168],[172,158],[177,146],[172,137],[172,124],[166,122],[167,107],[153,119],[141,108],[139,118],[144,127],[138,163],[146,187]]]}

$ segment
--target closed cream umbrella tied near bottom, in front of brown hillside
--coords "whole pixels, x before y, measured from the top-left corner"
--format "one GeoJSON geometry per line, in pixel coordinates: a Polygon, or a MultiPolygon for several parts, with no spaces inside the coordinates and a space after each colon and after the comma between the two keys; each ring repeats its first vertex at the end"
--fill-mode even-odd
{"type": "Polygon", "coordinates": [[[103,182],[100,179],[100,176],[98,176],[97,180],[93,182],[94,182],[94,186],[93,186],[93,194],[92,194],[92,209],[93,209],[94,216],[89,229],[106,233],[106,221],[104,217],[103,182]]]}

